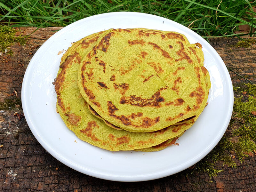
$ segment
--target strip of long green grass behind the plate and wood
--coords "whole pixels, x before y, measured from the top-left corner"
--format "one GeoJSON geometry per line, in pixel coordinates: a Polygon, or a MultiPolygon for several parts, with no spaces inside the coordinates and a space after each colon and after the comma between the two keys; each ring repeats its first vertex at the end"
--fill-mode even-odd
{"type": "MultiPolygon", "coordinates": [[[[250,3],[251,2],[251,3],[250,3]]],[[[176,21],[201,36],[241,36],[248,24],[252,36],[256,21],[248,0],[0,0],[0,23],[12,27],[65,27],[77,20],[106,12],[144,12],[176,21]]]]}

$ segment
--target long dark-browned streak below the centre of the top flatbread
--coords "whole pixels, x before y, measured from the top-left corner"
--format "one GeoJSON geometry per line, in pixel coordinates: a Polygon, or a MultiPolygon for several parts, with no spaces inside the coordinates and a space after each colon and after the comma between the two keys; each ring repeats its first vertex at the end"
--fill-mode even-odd
{"type": "Polygon", "coordinates": [[[122,97],[120,100],[121,104],[130,104],[134,106],[144,107],[144,106],[151,106],[151,107],[161,107],[160,103],[164,102],[164,98],[161,97],[160,92],[165,90],[165,87],[159,89],[156,93],[154,93],[151,98],[145,99],[141,97],[136,97],[135,95],[131,95],[129,97],[122,97]]]}

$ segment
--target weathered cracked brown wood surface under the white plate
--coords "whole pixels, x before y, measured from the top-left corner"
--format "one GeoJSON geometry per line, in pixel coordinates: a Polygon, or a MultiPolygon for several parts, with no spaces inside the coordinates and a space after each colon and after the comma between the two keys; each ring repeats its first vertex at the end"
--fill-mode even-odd
{"type": "MultiPolygon", "coordinates": [[[[35,30],[21,29],[27,35],[35,30]]],[[[256,157],[253,153],[242,164],[235,158],[237,168],[222,166],[224,172],[211,180],[207,173],[201,172],[188,177],[178,173],[158,180],[133,183],[93,178],[72,170],[52,157],[30,132],[19,102],[29,60],[58,29],[38,29],[27,45],[15,44],[11,48],[13,57],[4,55],[4,61],[0,62],[0,103],[8,100],[13,104],[9,110],[0,109],[0,145],[3,145],[0,148],[0,191],[256,191],[256,157]]],[[[237,41],[237,38],[214,38],[211,44],[229,68],[256,83],[256,45],[233,47],[237,41]]],[[[247,83],[235,73],[230,71],[229,74],[233,84],[247,83]]]]}

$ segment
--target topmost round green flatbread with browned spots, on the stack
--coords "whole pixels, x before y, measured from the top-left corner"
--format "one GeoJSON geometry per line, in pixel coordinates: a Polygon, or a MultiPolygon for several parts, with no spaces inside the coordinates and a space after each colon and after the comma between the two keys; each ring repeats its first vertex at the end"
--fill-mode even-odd
{"type": "MultiPolygon", "coordinates": [[[[186,39],[177,33],[169,37],[154,31],[110,29],[81,62],[78,86],[84,99],[106,121],[132,132],[156,131],[195,116],[190,106],[198,106],[189,105],[177,93],[184,78],[184,84],[191,85],[187,92],[194,92],[198,103],[196,93],[206,90],[204,76],[185,47],[186,39]],[[184,68],[189,71],[185,77],[179,74],[184,68]],[[177,77],[170,78],[170,71],[177,77]],[[196,79],[189,78],[191,72],[196,79]]],[[[201,98],[206,97],[201,94],[201,98]]]]}

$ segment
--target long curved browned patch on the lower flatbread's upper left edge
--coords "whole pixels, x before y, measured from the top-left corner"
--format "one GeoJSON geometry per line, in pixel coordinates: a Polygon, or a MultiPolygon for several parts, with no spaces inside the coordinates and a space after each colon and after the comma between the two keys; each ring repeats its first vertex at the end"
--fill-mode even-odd
{"type": "Polygon", "coordinates": [[[79,53],[75,52],[72,55],[68,55],[68,57],[66,57],[64,62],[60,64],[60,68],[62,68],[62,70],[60,71],[60,73],[58,74],[56,79],[54,79],[54,82],[53,82],[54,89],[57,95],[60,95],[63,89],[63,83],[66,79],[66,72],[68,68],[72,65],[73,62],[80,63],[80,61],[81,61],[81,57],[79,56],[79,53]]]}

